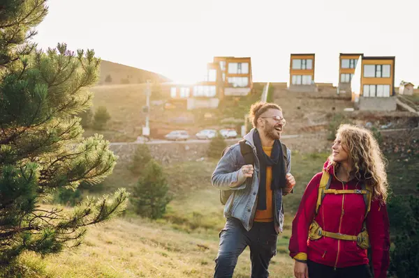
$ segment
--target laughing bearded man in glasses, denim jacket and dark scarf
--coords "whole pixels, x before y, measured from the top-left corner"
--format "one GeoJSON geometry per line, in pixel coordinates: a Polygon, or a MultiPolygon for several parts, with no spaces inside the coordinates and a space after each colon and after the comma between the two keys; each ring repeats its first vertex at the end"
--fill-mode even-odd
{"type": "Polygon", "coordinates": [[[242,144],[226,150],[211,178],[214,187],[232,192],[224,208],[227,220],[220,232],[214,277],[233,277],[237,258],[247,246],[251,277],[268,277],[284,224],[282,196],[295,185],[290,173],[291,150],[279,140],[286,123],[281,107],[256,102],[249,118],[253,129],[242,144]],[[249,158],[244,158],[244,147],[253,155],[253,164],[245,163],[249,158]]]}

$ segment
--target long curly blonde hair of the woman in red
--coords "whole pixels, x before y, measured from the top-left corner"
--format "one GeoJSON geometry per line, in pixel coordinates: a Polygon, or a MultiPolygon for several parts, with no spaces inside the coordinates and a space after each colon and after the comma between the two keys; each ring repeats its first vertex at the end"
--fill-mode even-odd
{"type": "MultiPolygon", "coordinates": [[[[365,180],[374,189],[373,199],[385,202],[388,196],[387,173],[385,173],[385,158],[372,132],[355,125],[340,125],[337,133],[341,137],[341,144],[347,148],[348,155],[353,161],[355,177],[365,180]]],[[[329,160],[333,165],[337,162],[329,160]]]]}

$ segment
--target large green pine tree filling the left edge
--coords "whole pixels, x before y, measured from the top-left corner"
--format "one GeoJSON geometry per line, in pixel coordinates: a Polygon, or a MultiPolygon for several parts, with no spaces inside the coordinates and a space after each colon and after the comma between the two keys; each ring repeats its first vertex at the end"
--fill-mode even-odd
{"type": "MultiPolygon", "coordinates": [[[[78,246],[86,227],[121,212],[128,194],[87,199],[74,210],[43,201],[112,172],[115,155],[96,135],[83,139],[80,118],[95,84],[93,50],[75,54],[66,44],[43,52],[30,39],[47,14],[46,0],[0,4],[0,264],[25,250],[38,254],[78,246]]],[[[1,268],[1,265],[0,265],[1,268]]]]}

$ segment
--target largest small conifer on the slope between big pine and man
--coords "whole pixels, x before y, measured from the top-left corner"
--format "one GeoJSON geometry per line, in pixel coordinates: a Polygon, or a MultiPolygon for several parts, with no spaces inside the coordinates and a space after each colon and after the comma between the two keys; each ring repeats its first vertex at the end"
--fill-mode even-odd
{"type": "Polygon", "coordinates": [[[163,169],[155,160],[150,160],[134,187],[131,201],[139,215],[157,219],[166,213],[166,206],[171,200],[168,191],[163,169]]]}

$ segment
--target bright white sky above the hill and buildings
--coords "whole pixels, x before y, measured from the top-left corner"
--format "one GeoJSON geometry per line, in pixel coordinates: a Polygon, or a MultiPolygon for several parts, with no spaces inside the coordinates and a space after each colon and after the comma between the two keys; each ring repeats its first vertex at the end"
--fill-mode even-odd
{"type": "Polygon", "coordinates": [[[316,82],[339,53],[396,56],[396,86],[419,85],[418,0],[50,0],[39,47],[93,48],[104,60],[203,79],[213,56],[251,56],[253,81],[286,82],[291,53],[316,53],[316,82]]]}

